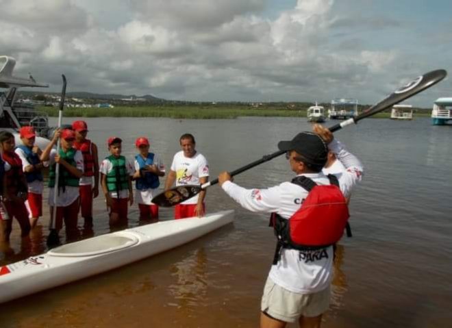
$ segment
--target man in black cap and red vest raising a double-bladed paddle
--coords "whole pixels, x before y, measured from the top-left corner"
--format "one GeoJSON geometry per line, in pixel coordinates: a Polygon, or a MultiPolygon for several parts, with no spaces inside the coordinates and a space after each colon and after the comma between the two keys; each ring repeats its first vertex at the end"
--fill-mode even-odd
{"type": "MultiPolygon", "coordinates": [[[[314,186],[325,185],[325,194],[327,191],[331,194],[336,192],[335,197],[342,199],[340,207],[335,207],[336,203],[328,204],[328,207],[333,205],[333,210],[329,212],[327,219],[331,220],[327,222],[336,223],[338,219],[342,220],[344,213],[347,220],[348,210],[344,197],[347,197],[351,188],[360,181],[362,165],[340,142],[333,140],[333,134],[328,129],[314,125],[314,132],[316,133],[302,132],[294,139],[278,144],[280,150],[287,151],[290,168],[297,174],[292,182],[283,182],[268,189],[247,190],[231,182],[229,173],[223,172],[218,176],[219,184],[229,197],[247,210],[275,214],[279,227],[286,225],[292,216],[299,217],[297,215],[303,208],[303,201],[308,199],[310,192],[297,184],[297,181],[307,180],[314,183],[314,186]],[[327,162],[328,149],[333,151],[347,168],[337,179],[329,179],[322,173],[327,162]],[[330,184],[337,184],[342,195],[337,193],[338,188],[328,186],[330,184]],[[342,212],[339,213],[339,209],[342,212]]],[[[314,192],[314,189],[311,192],[314,192]]],[[[310,222],[310,227],[314,228],[315,223],[321,219],[310,216],[307,218],[310,220],[305,222],[310,222]]],[[[307,226],[305,228],[307,229],[307,226]]],[[[336,229],[336,235],[342,235],[342,228],[343,226],[336,229]]],[[[325,228],[318,229],[318,238],[323,238],[324,230],[325,228]]],[[[333,277],[333,247],[331,243],[321,245],[324,246],[312,248],[310,244],[306,244],[307,247],[294,249],[289,244],[277,249],[262,296],[262,328],[283,328],[287,323],[295,322],[298,322],[300,327],[320,327],[322,315],[329,307],[329,285],[333,277]]]]}

